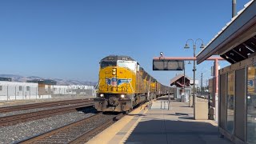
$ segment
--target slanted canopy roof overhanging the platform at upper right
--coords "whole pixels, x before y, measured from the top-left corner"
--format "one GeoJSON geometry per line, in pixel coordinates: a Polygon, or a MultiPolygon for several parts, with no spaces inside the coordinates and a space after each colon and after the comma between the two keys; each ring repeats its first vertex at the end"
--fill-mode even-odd
{"type": "Polygon", "coordinates": [[[212,55],[241,62],[256,51],[256,0],[248,2],[197,55],[198,64],[212,55]]]}

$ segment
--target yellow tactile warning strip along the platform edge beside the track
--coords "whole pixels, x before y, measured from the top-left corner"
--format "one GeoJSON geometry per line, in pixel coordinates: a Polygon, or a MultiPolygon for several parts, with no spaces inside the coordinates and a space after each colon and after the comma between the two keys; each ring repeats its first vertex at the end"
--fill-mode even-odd
{"type": "Polygon", "coordinates": [[[126,138],[129,137],[132,130],[138,125],[138,122],[142,118],[136,117],[138,114],[146,114],[148,109],[146,108],[147,104],[138,107],[133,110],[130,114],[126,115],[124,118],[120,119],[118,122],[115,122],[112,126],[102,131],[89,142],[90,144],[99,144],[99,143],[123,143],[126,141],[126,138]]]}

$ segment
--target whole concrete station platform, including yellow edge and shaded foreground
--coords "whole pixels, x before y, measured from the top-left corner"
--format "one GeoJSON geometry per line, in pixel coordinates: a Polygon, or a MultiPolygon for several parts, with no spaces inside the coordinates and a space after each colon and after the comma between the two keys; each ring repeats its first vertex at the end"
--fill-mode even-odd
{"type": "Polygon", "coordinates": [[[164,99],[153,102],[150,110],[147,105],[139,107],[87,143],[232,143],[219,137],[216,122],[194,120],[193,108],[188,103],[172,100],[168,110],[167,102],[163,106],[164,99]]]}

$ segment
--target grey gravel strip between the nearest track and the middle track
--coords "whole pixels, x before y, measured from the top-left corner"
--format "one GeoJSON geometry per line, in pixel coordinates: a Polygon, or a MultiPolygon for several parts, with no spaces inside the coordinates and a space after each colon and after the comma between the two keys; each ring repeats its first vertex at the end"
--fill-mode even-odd
{"type": "Polygon", "coordinates": [[[15,126],[0,127],[0,143],[12,143],[24,138],[32,137],[36,134],[42,134],[46,131],[65,126],[69,123],[76,122],[82,118],[88,118],[94,113],[92,109],[86,109],[83,112],[72,112],[67,114],[56,115],[50,118],[43,118],[31,122],[21,123],[15,126]]]}

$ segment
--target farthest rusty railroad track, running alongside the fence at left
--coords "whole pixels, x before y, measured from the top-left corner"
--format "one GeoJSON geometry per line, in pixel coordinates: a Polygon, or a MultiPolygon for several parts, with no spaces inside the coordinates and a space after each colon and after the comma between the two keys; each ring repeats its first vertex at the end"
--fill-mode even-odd
{"type": "Polygon", "coordinates": [[[83,103],[83,102],[93,102],[93,100],[74,99],[74,100],[64,100],[64,101],[55,101],[55,102],[31,103],[31,104],[18,105],[18,106],[6,106],[6,107],[0,107],[0,113],[7,113],[12,111],[18,111],[18,110],[45,108],[45,107],[52,107],[52,106],[65,106],[65,105],[72,105],[72,104],[83,103]]]}

